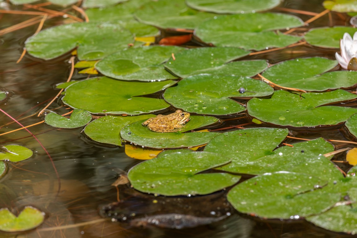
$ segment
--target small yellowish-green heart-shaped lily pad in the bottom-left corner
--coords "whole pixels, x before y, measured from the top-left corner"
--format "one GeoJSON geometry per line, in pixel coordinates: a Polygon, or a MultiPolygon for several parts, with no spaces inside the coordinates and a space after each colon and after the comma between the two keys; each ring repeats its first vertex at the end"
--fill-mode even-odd
{"type": "Polygon", "coordinates": [[[26,206],[16,217],[9,209],[0,209],[0,231],[20,232],[34,229],[42,224],[45,213],[37,208],[26,206]]]}

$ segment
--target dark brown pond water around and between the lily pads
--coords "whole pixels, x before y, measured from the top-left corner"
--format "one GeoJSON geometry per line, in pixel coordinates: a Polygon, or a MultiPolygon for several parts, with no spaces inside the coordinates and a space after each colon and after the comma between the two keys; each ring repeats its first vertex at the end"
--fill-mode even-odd
{"type": "MultiPolygon", "coordinates": [[[[284,1],[282,7],[321,12],[324,10],[321,3],[322,0],[291,0],[284,1]]],[[[306,15],[297,15],[302,20],[310,18],[306,15]]],[[[29,19],[28,16],[10,14],[2,14],[0,17],[2,29],[29,19]]],[[[327,21],[328,15],[312,24],[314,27],[325,26],[327,21]]],[[[46,21],[44,27],[61,24],[61,22],[62,20],[52,19],[46,21]]],[[[343,25],[345,21],[334,18],[332,24],[343,25]]],[[[69,55],[50,61],[25,55],[24,59],[16,64],[25,40],[34,34],[36,27],[36,25],[30,26],[0,36],[0,87],[12,95],[1,105],[1,109],[19,120],[22,125],[31,125],[44,119],[37,117],[37,113],[59,91],[54,85],[66,81],[70,72],[69,55]]],[[[269,53],[250,59],[267,59],[270,63],[304,56],[325,56],[334,59],[334,53],[334,50],[297,46],[280,52],[279,55],[269,53]]],[[[77,74],[75,71],[73,79],[85,77],[86,75],[77,74]]],[[[67,112],[65,107],[61,106],[61,102],[52,103],[49,109],[56,108],[56,111],[62,114],[67,112]]],[[[247,118],[239,120],[225,118],[221,128],[247,122],[249,122],[247,118]]],[[[0,124],[0,133],[19,128],[19,125],[2,113],[0,113],[0,124]]],[[[0,233],[0,237],[338,237],[337,234],[327,233],[307,222],[264,221],[252,219],[233,210],[229,210],[231,216],[222,221],[182,230],[154,226],[135,227],[125,222],[111,222],[110,219],[103,219],[98,212],[101,211],[102,205],[117,201],[117,189],[111,184],[116,180],[120,169],[128,171],[141,161],[128,157],[124,147],[104,146],[91,141],[81,133],[82,128],[59,130],[41,123],[30,127],[29,130],[42,142],[54,163],[51,163],[39,143],[25,130],[2,135],[1,145],[23,145],[35,151],[35,156],[21,163],[9,163],[7,174],[0,179],[0,207],[7,207],[16,212],[14,208],[21,209],[25,205],[31,205],[44,211],[46,220],[38,230],[19,236],[0,233]],[[59,197],[56,197],[58,181],[54,166],[61,179],[59,197]]],[[[343,130],[345,129],[342,127],[327,131],[292,130],[292,136],[317,138],[323,135],[335,140],[353,140],[352,137],[346,138],[347,133],[343,130]]],[[[336,150],[342,147],[346,145],[336,144],[336,150]]],[[[126,185],[121,185],[119,188],[121,199],[132,201],[126,207],[128,214],[132,211],[144,214],[147,212],[145,210],[147,207],[142,208],[140,204],[143,201],[156,199],[154,195],[135,192],[126,185]]],[[[225,193],[218,194],[224,197],[225,193]]],[[[187,199],[188,203],[190,198],[180,199],[183,201],[187,199]]],[[[210,212],[205,211],[211,208],[208,202],[210,200],[200,201],[202,213],[210,212]]],[[[165,205],[160,209],[164,207],[165,205]]],[[[170,205],[165,209],[170,213],[175,210],[175,206],[170,205]]]]}

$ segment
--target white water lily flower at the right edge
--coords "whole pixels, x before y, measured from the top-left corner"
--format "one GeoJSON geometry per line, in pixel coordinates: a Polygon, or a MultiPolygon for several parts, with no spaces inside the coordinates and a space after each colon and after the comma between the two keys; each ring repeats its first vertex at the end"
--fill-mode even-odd
{"type": "Polygon", "coordinates": [[[350,34],[343,34],[343,39],[340,40],[341,55],[335,54],[336,60],[343,69],[357,70],[357,31],[353,34],[353,39],[350,34]]]}

